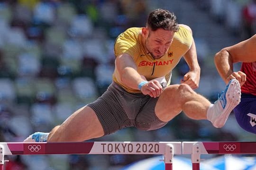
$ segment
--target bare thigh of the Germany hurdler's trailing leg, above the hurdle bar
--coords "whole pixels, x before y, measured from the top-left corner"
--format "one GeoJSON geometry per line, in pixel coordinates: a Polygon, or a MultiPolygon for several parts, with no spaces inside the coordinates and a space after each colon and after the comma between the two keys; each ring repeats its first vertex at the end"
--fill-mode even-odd
{"type": "Polygon", "coordinates": [[[95,112],[84,106],[66,119],[48,142],[81,142],[103,135],[103,128],[95,112]]]}

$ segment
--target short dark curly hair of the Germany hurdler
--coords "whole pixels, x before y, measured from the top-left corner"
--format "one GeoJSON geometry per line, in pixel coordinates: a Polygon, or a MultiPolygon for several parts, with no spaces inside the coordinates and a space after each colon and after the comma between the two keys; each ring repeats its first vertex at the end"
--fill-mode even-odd
{"type": "Polygon", "coordinates": [[[174,32],[179,31],[176,16],[165,9],[155,9],[152,11],[148,16],[146,26],[150,27],[152,31],[158,28],[174,32]]]}

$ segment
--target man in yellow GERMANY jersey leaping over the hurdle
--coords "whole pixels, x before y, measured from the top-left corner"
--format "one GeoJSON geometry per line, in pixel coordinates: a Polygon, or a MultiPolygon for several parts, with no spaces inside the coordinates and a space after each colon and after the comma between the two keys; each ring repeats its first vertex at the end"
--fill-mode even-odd
{"type": "Polygon", "coordinates": [[[236,79],[229,81],[214,104],[193,91],[199,85],[200,67],[192,30],[178,25],[168,10],[155,9],[146,27],[120,34],[114,52],[116,67],[107,91],[50,133],[34,133],[24,142],[79,142],[124,127],[154,130],[182,111],[191,119],[208,119],[214,127],[223,127],[240,102],[236,79]],[[181,84],[170,85],[172,70],[182,57],[190,70],[181,84]]]}

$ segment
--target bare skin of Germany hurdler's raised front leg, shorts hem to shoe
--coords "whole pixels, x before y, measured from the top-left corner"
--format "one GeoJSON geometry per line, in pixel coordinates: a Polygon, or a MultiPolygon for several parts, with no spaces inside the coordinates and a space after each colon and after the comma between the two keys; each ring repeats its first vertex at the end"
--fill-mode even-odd
{"type": "Polygon", "coordinates": [[[169,121],[182,110],[191,119],[207,119],[206,111],[210,102],[195,93],[189,85],[170,85],[160,95],[156,106],[156,116],[162,121],[169,121]]]}

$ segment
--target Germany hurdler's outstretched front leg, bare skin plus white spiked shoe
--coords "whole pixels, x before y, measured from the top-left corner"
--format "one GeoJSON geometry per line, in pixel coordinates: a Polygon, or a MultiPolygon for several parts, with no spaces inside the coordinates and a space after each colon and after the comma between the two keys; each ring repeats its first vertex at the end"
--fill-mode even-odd
{"type": "Polygon", "coordinates": [[[160,120],[166,122],[183,110],[191,119],[208,119],[214,127],[223,127],[230,112],[240,102],[240,96],[240,85],[236,79],[230,80],[214,104],[195,93],[189,85],[171,85],[160,95],[155,113],[160,120]]]}

